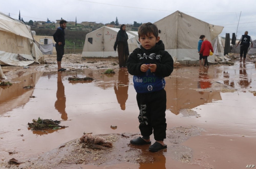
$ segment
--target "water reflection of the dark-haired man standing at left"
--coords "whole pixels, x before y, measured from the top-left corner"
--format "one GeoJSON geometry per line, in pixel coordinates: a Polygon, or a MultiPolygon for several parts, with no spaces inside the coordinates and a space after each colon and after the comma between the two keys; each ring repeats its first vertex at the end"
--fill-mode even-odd
{"type": "Polygon", "coordinates": [[[56,93],[57,100],[55,102],[55,108],[61,114],[61,118],[63,120],[67,120],[68,119],[68,114],[65,111],[66,96],[65,96],[65,92],[64,92],[64,85],[63,85],[61,80],[62,80],[61,79],[61,73],[58,72],[57,93],[56,93]]]}

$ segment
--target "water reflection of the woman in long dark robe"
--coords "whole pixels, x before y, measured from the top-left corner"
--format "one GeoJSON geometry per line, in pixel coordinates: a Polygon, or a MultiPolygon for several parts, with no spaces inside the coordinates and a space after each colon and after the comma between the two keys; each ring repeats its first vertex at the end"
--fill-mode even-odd
{"type": "Polygon", "coordinates": [[[119,69],[118,83],[114,86],[116,99],[120,104],[121,110],[125,110],[125,102],[128,99],[128,75],[127,69],[119,69]]]}

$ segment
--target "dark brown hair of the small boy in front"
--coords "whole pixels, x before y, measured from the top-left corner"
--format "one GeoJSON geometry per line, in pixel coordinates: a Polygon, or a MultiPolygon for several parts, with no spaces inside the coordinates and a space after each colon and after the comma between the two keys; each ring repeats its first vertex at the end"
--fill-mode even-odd
{"type": "Polygon", "coordinates": [[[139,28],[138,28],[138,36],[139,38],[142,35],[148,35],[149,33],[153,33],[153,35],[157,38],[158,37],[158,28],[156,25],[154,25],[151,22],[143,23],[139,28]]]}

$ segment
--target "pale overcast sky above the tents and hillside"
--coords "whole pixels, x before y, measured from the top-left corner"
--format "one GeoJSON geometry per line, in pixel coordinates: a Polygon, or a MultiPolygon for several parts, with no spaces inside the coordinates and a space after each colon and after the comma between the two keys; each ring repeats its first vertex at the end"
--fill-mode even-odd
{"type": "Polygon", "coordinates": [[[120,24],[133,24],[134,21],[154,23],[179,10],[210,24],[223,26],[222,37],[230,33],[232,38],[232,33],[237,32],[237,39],[240,39],[244,31],[248,31],[255,40],[255,5],[255,0],[7,0],[1,1],[0,12],[18,19],[20,10],[25,22],[46,21],[47,18],[54,22],[61,18],[76,21],[77,17],[77,23],[105,24],[117,17],[120,24]]]}

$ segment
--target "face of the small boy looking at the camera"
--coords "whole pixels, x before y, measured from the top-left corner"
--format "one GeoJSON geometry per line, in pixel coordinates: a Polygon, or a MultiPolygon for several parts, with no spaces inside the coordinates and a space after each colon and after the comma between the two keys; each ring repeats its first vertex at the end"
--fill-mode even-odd
{"type": "Polygon", "coordinates": [[[148,33],[147,35],[141,35],[139,41],[142,47],[146,50],[152,49],[157,42],[159,42],[160,37],[155,37],[153,33],[148,33]]]}

